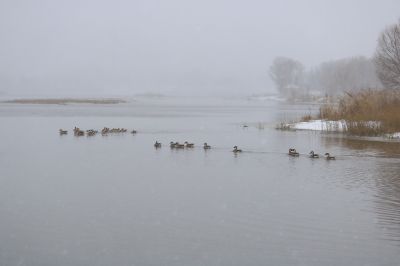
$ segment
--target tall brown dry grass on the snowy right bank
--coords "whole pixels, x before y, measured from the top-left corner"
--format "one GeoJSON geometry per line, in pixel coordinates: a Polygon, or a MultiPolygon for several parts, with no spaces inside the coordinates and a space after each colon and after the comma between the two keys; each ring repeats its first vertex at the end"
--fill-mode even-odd
{"type": "Polygon", "coordinates": [[[347,93],[339,103],[320,108],[321,119],[344,120],[346,131],[359,136],[400,132],[400,91],[362,90],[347,93]]]}

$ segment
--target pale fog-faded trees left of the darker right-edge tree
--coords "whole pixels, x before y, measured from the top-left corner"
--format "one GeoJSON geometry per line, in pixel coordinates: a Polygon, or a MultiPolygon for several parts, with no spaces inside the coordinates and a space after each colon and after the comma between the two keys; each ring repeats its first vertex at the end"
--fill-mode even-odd
{"type": "Polygon", "coordinates": [[[307,71],[299,61],[277,57],[270,77],[278,91],[288,98],[382,87],[374,61],[362,56],[323,62],[307,71]]]}

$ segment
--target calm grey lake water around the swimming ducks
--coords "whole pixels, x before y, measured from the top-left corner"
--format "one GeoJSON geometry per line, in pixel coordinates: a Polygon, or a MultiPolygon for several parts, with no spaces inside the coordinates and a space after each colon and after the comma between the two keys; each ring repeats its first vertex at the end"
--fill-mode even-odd
{"type": "Polygon", "coordinates": [[[399,265],[400,144],[274,129],[316,108],[0,104],[0,265],[399,265]]]}

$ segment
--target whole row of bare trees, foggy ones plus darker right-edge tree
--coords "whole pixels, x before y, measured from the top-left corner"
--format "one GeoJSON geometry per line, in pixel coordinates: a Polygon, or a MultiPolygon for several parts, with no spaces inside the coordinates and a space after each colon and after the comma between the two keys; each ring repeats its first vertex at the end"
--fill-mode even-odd
{"type": "Polygon", "coordinates": [[[269,74],[287,98],[338,95],[362,89],[400,90],[400,21],[380,35],[373,58],[363,56],[323,62],[306,70],[292,58],[277,57],[269,74]]]}

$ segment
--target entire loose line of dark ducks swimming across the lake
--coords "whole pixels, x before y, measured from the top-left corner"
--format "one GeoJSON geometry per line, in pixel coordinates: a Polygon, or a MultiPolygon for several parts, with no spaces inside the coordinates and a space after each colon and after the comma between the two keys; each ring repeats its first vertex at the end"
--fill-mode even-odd
{"type": "MultiPolygon", "coordinates": [[[[107,134],[109,134],[109,133],[126,133],[128,130],[126,129],[126,128],[108,128],[108,127],[104,127],[101,131],[100,131],[100,133],[104,136],[104,135],[107,135],[107,134]]],[[[67,130],[63,130],[63,129],[60,129],[59,130],[59,133],[60,133],[60,135],[66,135],[66,134],[68,134],[68,131],[67,130]]],[[[85,136],[85,134],[86,134],[86,136],[95,136],[96,134],[98,134],[99,133],[99,131],[97,131],[97,130],[94,130],[94,129],[89,129],[89,130],[86,130],[86,131],[84,131],[84,130],[81,130],[80,128],[78,128],[78,127],[75,127],[74,128],[74,135],[75,136],[85,136]]],[[[131,134],[136,134],[137,133],[137,131],[136,130],[132,130],[131,131],[131,134]]],[[[154,147],[156,148],[156,149],[158,149],[158,148],[161,148],[161,142],[158,142],[158,141],[156,141],[155,143],[154,143],[154,147]]],[[[194,148],[194,143],[189,143],[189,142],[187,142],[187,141],[185,141],[184,143],[179,143],[179,142],[173,142],[173,141],[171,141],[170,143],[169,143],[169,147],[171,148],[171,149],[191,149],[191,148],[194,148]]],[[[211,146],[210,145],[208,145],[207,144],[207,142],[205,142],[204,144],[203,144],[203,149],[204,150],[209,150],[209,149],[211,149],[211,146]]],[[[233,147],[233,150],[232,150],[232,152],[233,153],[241,153],[242,152],[242,150],[241,149],[239,149],[237,146],[234,146],[233,147]]],[[[294,148],[290,148],[289,149],[289,152],[288,152],[288,155],[289,156],[292,156],[292,157],[298,157],[298,156],[300,156],[300,153],[298,153],[297,151],[296,151],[296,149],[294,149],[294,148]]],[[[335,158],[335,156],[331,156],[328,152],[327,153],[325,153],[325,159],[327,159],[327,160],[335,160],[336,158],[335,158]]],[[[312,159],[316,159],[316,158],[319,158],[320,156],[319,156],[319,154],[317,154],[317,153],[314,153],[314,151],[310,151],[310,153],[309,153],[309,156],[308,156],[309,158],[312,158],[312,159]]]]}

